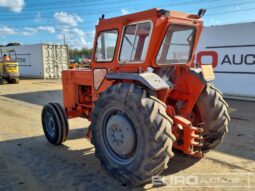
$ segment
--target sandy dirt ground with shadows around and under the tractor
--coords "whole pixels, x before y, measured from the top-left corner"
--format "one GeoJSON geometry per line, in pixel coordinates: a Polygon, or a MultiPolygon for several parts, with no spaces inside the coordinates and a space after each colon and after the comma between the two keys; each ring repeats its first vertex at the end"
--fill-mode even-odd
{"type": "Polygon", "coordinates": [[[255,190],[255,176],[247,174],[255,173],[255,102],[227,101],[232,121],[222,145],[201,160],[175,152],[162,174],[167,186],[130,188],[109,177],[94,156],[93,146],[84,138],[88,121],[69,120],[69,139],[62,146],[44,138],[42,106],[62,103],[60,80],[21,80],[17,85],[0,86],[0,190],[255,190]],[[199,178],[239,177],[241,187],[169,184],[172,177],[194,173],[199,178]]]}

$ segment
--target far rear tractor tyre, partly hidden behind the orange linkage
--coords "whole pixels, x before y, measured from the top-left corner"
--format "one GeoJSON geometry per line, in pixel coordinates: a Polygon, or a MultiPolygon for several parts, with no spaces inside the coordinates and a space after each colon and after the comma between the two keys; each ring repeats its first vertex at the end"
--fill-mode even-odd
{"type": "Polygon", "coordinates": [[[200,121],[204,123],[202,151],[207,152],[221,143],[224,135],[228,132],[229,106],[224,101],[222,93],[212,84],[207,84],[197,101],[196,107],[200,121]]]}

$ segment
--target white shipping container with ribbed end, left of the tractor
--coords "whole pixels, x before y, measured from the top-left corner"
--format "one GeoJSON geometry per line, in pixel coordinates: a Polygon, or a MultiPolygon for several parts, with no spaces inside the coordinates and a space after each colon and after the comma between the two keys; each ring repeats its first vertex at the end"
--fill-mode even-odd
{"type": "Polygon", "coordinates": [[[8,46],[2,49],[16,51],[21,77],[61,78],[62,70],[68,68],[67,45],[35,44],[8,46]]]}

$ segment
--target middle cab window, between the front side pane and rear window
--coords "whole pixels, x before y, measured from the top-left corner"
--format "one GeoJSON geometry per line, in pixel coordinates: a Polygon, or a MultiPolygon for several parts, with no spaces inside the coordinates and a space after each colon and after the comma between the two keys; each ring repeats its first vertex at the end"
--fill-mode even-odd
{"type": "Polygon", "coordinates": [[[151,22],[131,24],[125,27],[119,61],[143,62],[151,36],[151,22]]]}

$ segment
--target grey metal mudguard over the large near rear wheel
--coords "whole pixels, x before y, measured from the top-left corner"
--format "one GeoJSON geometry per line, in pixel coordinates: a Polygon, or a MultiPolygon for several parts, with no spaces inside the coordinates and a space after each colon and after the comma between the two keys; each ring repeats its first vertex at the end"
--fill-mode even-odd
{"type": "Polygon", "coordinates": [[[145,73],[109,73],[106,78],[108,80],[134,80],[142,83],[153,91],[171,88],[172,84],[167,84],[157,74],[145,72],[145,73]]]}

